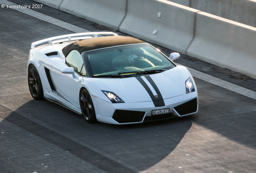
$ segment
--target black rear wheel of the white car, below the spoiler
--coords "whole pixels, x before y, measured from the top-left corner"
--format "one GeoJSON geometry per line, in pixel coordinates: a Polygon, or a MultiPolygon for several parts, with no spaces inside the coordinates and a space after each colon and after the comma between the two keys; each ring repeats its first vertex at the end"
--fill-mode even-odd
{"type": "Polygon", "coordinates": [[[28,84],[31,96],[35,100],[43,99],[43,87],[40,76],[34,65],[29,66],[28,73],[28,84]]]}

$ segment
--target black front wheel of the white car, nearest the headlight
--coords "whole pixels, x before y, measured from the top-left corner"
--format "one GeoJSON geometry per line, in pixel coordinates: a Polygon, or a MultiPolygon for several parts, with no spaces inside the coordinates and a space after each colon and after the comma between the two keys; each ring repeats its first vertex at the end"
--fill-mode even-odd
{"type": "Polygon", "coordinates": [[[80,93],[80,108],[87,123],[97,122],[93,100],[86,89],[82,89],[80,93]]]}

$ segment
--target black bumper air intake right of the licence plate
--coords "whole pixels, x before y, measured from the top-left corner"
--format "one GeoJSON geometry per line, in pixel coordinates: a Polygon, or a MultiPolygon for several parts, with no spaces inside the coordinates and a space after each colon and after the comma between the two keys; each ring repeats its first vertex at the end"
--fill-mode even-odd
{"type": "Polygon", "coordinates": [[[186,115],[197,111],[197,99],[192,99],[186,103],[183,103],[177,107],[174,107],[175,111],[180,115],[186,115]]]}

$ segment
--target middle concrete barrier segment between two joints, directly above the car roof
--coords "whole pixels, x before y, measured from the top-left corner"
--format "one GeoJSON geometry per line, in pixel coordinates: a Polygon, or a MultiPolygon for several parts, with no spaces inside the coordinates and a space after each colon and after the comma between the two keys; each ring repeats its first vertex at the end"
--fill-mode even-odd
{"type": "Polygon", "coordinates": [[[197,11],[165,0],[128,0],[119,30],[184,53],[197,11]]]}

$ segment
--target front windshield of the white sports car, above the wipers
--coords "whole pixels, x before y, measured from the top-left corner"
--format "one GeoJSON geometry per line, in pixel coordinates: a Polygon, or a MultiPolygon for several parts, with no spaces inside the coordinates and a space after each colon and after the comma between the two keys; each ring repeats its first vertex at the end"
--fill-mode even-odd
{"type": "Polygon", "coordinates": [[[86,52],[93,77],[153,74],[175,65],[149,44],[135,44],[86,52]]]}

